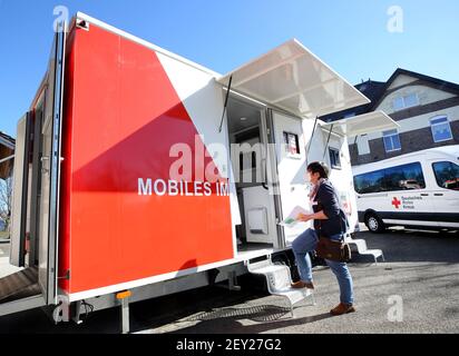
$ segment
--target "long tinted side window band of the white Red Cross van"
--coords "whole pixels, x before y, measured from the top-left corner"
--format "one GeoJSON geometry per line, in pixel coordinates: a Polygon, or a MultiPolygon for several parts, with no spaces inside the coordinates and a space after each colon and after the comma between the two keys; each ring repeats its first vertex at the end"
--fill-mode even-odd
{"type": "Polygon", "coordinates": [[[424,189],[426,180],[420,162],[380,169],[354,177],[359,194],[424,189]]]}

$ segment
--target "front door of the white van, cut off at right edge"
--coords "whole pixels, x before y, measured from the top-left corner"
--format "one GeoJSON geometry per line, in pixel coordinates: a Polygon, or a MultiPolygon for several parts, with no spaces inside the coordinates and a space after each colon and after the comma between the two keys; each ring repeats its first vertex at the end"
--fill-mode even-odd
{"type": "Polygon", "coordinates": [[[428,161],[434,212],[439,227],[459,228],[459,165],[448,159],[428,161]]]}

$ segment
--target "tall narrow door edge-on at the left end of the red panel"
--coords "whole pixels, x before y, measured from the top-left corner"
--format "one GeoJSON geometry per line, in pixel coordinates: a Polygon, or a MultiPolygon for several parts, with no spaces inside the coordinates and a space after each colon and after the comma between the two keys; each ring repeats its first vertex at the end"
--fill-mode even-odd
{"type": "MultiPolygon", "coordinates": [[[[64,26],[62,26],[64,28],[64,26]]],[[[42,125],[38,280],[47,304],[56,303],[59,177],[66,32],[55,36],[48,67],[42,125]]]]}

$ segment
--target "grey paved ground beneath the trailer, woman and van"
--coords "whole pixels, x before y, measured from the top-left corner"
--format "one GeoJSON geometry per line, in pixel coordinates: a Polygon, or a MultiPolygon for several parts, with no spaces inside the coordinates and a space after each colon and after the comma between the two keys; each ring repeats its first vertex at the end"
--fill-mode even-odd
{"type": "MultiPolygon", "coordinates": [[[[351,264],[358,312],[331,317],[338,303],[334,276],[314,271],[316,305],[304,300],[295,318],[286,303],[267,295],[263,281],[241,280],[242,291],[206,287],[131,305],[137,333],[459,333],[459,236],[436,233],[361,233],[369,248],[382,248],[387,263],[357,256],[351,264]],[[400,318],[400,319],[399,319],[400,318]],[[399,320],[398,320],[399,319],[399,320]]],[[[0,333],[118,333],[116,309],[97,312],[82,325],[53,326],[41,310],[0,317],[0,333]]]]}

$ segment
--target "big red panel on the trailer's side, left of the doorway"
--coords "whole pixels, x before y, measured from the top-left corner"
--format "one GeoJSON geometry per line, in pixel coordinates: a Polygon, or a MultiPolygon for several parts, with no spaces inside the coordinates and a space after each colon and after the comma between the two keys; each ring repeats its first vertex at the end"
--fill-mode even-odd
{"type": "Polygon", "coordinates": [[[74,30],[67,60],[60,287],[233,258],[228,196],[138,194],[138,178],[167,181],[170,147],[198,135],[156,53],[90,26],[74,30]]]}

